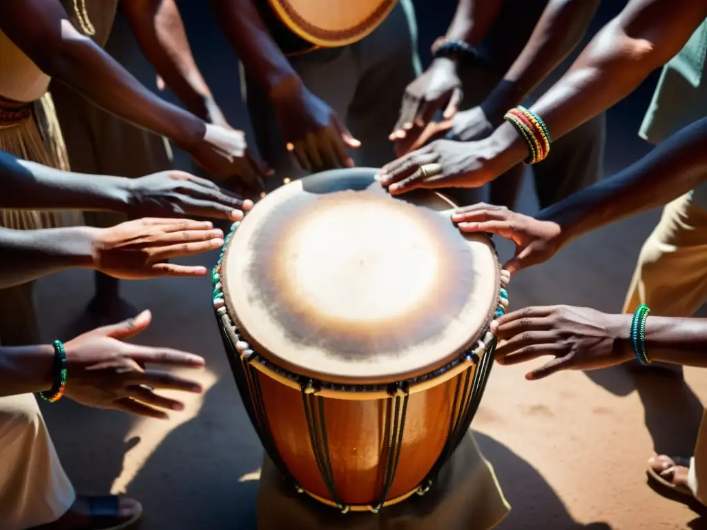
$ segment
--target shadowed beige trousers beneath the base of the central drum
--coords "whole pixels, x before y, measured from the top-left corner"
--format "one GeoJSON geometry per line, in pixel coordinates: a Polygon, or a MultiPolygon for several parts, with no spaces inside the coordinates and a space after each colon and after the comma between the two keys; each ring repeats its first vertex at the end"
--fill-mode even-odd
{"type": "Polygon", "coordinates": [[[258,530],[490,530],[510,506],[469,431],[426,495],[413,495],[380,514],[340,514],[298,495],[267,457],[256,510],[258,530]]]}

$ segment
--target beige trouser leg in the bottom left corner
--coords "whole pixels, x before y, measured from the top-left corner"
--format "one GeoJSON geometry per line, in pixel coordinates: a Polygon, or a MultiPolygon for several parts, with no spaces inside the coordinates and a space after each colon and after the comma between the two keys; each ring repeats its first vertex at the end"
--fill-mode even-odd
{"type": "Polygon", "coordinates": [[[35,396],[0,397],[0,529],[56,521],[75,498],[35,396]]]}

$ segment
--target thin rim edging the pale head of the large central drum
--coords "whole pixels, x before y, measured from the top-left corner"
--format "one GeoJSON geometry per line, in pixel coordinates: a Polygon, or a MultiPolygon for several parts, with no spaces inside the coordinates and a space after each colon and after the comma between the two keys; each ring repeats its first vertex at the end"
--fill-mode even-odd
{"type": "MultiPolygon", "coordinates": [[[[374,167],[357,167],[357,170],[373,170],[375,172],[380,171],[379,168],[374,168],[374,167]]],[[[341,170],[333,170],[333,171],[341,171],[341,170]]],[[[332,172],[333,172],[332,171],[332,172]]],[[[318,173],[316,175],[312,176],[317,176],[317,175],[322,175],[322,173],[318,173]]],[[[309,177],[304,177],[305,179],[309,177]]],[[[292,183],[294,184],[294,182],[292,183]]],[[[288,184],[291,185],[291,184],[288,184]]],[[[451,201],[447,196],[444,194],[441,194],[439,192],[434,192],[433,190],[424,190],[426,192],[431,192],[438,196],[440,199],[445,201],[450,205],[451,208],[456,208],[457,205],[451,201]]],[[[257,207],[254,206],[254,208],[257,207]]],[[[244,213],[244,218],[245,215],[247,215],[247,212],[244,213]]],[[[501,288],[503,288],[503,285],[501,284],[501,262],[498,259],[498,250],[496,249],[496,245],[493,242],[493,239],[491,238],[490,234],[484,234],[486,237],[486,242],[488,242],[489,247],[491,249],[491,253],[493,255],[493,260],[496,262],[496,268],[498,270],[498,274],[496,275],[496,288],[494,291],[498,293],[496,295],[496,303],[489,303],[489,312],[486,314],[486,318],[484,319],[483,324],[479,327],[479,331],[477,331],[476,334],[473,336],[469,337],[469,340],[464,343],[463,346],[460,348],[457,348],[455,351],[452,351],[448,353],[448,355],[444,355],[443,357],[440,357],[436,362],[431,363],[426,366],[419,367],[416,370],[410,370],[409,372],[401,372],[397,377],[391,376],[391,375],[386,375],[382,377],[366,377],[366,383],[363,383],[363,379],[360,377],[346,377],[342,376],[339,377],[338,375],[332,375],[329,373],[322,373],[322,372],[317,372],[317,370],[314,369],[308,369],[305,373],[304,370],[301,370],[298,365],[295,365],[293,363],[290,363],[288,360],[281,358],[279,355],[276,355],[274,353],[271,353],[268,348],[265,348],[262,343],[257,341],[255,337],[253,337],[247,329],[245,329],[245,326],[243,326],[243,323],[240,322],[240,319],[238,319],[238,315],[235,314],[234,311],[229,310],[229,307],[232,307],[232,302],[230,298],[230,293],[228,290],[228,285],[226,283],[222,283],[222,278],[225,279],[224,273],[225,273],[225,266],[223,267],[223,271],[221,270],[221,264],[226,255],[228,255],[228,249],[230,248],[230,243],[231,240],[233,239],[233,234],[235,233],[235,230],[238,228],[240,225],[241,221],[236,221],[231,225],[230,232],[228,235],[225,237],[225,242],[223,243],[223,248],[221,249],[221,255],[218,258],[218,264],[216,268],[214,268],[214,276],[213,276],[213,283],[214,283],[214,296],[219,295],[223,298],[225,302],[225,310],[226,314],[228,314],[228,317],[231,322],[233,322],[233,326],[235,326],[235,329],[238,329],[238,334],[241,336],[243,341],[247,342],[250,345],[250,351],[257,351],[259,358],[262,358],[267,362],[267,365],[269,367],[276,367],[279,370],[282,370],[283,372],[292,374],[296,377],[305,377],[308,379],[312,379],[312,381],[317,381],[317,382],[327,382],[331,385],[336,385],[338,387],[351,387],[351,390],[353,391],[354,388],[356,387],[367,387],[367,386],[384,386],[389,385],[389,384],[395,384],[399,382],[414,382],[417,379],[421,379],[421,377],[427,377],[428,379],[431,378],[431,375],[434,372],[438,372],[439,370],[445,369],[448,365],[450,365],[452,362],[457,361],[460,362],[460,360],[463,360],[467,355],[470,355],[473,353],[474,350],[476,350],[479,344],[479,341],[481,338],[485,337],[487,333],[489,333],[489,326],[491,324],[491,321],[497,317],[498,315],[498,310],[499,307],[501,307],[501,288]],[[218,269],[218,272],[217,272],[218,269]],[[218,278],[217,278],[218,276],[218,278]],[[218,285],[216,285],[218,283],[218,285]],[[217,293],[218,291],[218,293],[217,293]],[[471,350],[471,352],[469,351],[471,350]],[[264,355],[263,355],[264,352],[264,355]]],[[[507,300],[506,300],[507,303],[507,300]]],[[[505,311],[505,308],[501,307],[502,310],[505,311]]],[[[235,345],[234,345],[235,346],[235,345]]],[[[436,376],[433,376],[436,377],[436,376]]]]}

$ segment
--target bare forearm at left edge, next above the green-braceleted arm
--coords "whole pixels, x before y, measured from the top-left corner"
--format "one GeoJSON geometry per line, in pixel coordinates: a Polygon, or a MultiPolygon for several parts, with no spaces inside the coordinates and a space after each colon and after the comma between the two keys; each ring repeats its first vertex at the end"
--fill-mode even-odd
{"type": "Polygon", "coordinates": [[[93,266],[95,228],[0,228],[0,289],[62,269],[93,266]]]}

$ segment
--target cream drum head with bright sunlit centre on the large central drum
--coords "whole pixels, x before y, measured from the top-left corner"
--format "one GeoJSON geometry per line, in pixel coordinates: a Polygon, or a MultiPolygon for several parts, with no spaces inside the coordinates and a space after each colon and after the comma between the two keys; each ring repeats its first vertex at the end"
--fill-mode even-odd
{"type": "Polygon", "coordinates": [[[226,307],[271,363],[332,383],[395,382],[454,360],[491,321],[499,266],[486,236],[463,235],[439,194],[390,196],[376,172],[287,184],[228,242],[226,307]]]}

